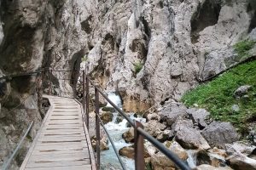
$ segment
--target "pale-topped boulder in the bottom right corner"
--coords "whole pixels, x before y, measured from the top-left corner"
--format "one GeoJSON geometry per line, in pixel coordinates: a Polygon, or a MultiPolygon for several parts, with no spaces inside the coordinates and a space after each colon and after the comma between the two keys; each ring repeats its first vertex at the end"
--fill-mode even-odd
{"type": "Polygon", "coordinates": [[[236,152],[232,156],[226,158],[226,162],[230,167],[235,170],[255,170],[256,169],[256,160],[242,155],[239,152],[236,152]]]}

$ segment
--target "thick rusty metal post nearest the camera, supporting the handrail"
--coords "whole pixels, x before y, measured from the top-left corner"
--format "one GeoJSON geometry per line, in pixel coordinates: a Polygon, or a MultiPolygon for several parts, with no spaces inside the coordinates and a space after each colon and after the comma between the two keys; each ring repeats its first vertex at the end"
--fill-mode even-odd
{"type": "Polygon", "coordinates": [[[134,128],[135,169],[144,170],[145,169],[144,139],[143,139],[143,135],[141,135],[137,131],[137,127],[143,128],[143,124],[137,121],[134,121],[134,123],[135,123],[135,128],[134,128]]]}

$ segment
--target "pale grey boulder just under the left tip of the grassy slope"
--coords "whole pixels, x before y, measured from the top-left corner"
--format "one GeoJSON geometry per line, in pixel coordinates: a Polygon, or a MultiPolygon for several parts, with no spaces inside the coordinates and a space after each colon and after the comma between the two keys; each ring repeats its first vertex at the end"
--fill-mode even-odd
{"type": "Polygon", "coordinates": [[[207,127],[207,119],[209,119],[210,113],[205,109],[195,109],[191,108],[186,111],[194,122],[194,124],[197,124],[198,127],[204,128],[207,127]]]}

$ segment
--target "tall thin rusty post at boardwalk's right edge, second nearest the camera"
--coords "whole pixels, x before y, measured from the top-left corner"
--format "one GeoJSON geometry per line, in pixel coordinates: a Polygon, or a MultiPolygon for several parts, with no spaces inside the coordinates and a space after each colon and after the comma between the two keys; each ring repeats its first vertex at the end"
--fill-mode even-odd
{"type": "Polygon", "coordinates": [[[99,91],[95,88],[95,112],[96,112],[96,154],[97,154],[97,169],[101,167],[101,134],[100,134],[100,120],[99,120],[99,91]]]}

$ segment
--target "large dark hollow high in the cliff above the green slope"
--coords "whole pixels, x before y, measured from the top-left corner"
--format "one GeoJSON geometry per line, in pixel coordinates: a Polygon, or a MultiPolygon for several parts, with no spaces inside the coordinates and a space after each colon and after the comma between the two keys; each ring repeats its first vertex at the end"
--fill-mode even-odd
{"type": "Polygon", "coordinates": [[[214,0],[206,0],[199,4],[195,14],[190,20],[191,24],[191,41],[198,42],[199,32],[208,26],[214,26],[218,23],[218,16],[221,9],[220,3],[214,0]]]}

